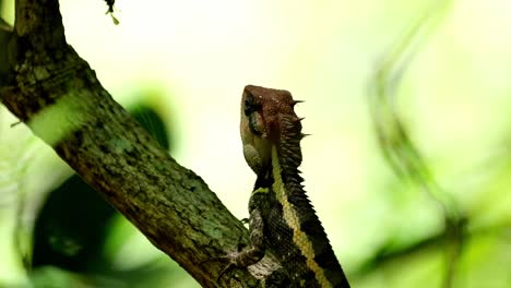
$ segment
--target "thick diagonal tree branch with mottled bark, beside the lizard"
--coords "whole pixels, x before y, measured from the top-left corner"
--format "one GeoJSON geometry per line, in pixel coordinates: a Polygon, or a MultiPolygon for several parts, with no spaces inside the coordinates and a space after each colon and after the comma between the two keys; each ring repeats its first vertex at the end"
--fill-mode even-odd
{"type": "Polygon", "coordinates": [[[57,0],[16,0],[4,35],[1,103],[155,247],[204,287],[257,287],[255,276],[275,268],[266,257],[217,281],[218,257],[248,241],[247,229],[102,87],[66,43],[57,0]]]}

